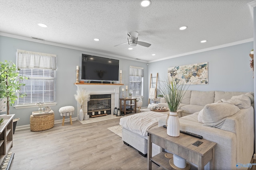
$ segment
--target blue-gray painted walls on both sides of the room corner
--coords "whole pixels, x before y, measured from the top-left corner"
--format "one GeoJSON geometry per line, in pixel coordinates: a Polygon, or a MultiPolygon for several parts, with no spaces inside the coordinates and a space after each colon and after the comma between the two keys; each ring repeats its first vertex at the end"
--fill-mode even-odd
{"type": "MultiPolygon", "coordinates": [[[[76,82],[76,65],[81,65],[81,54],[88,52],[0,36],[0,61],[7,60],[16,63],[17,49],[57,55],[56,102],[58,104],[56,106],[51,106],[51,108],[55,112],[55,120],[62,119],[58,112],[60,107],[76,106],[76,100],[74,99],[74,94],[76,93],[76,86],[74,85],[74,82],[76,82]]],[[[150,73],[155,76],[158,72],[159,79],[164,80],[167,77],[168,67],[186,64],[208,62],[209,84],[190,85],[190,90],[253,92],[254,79],[252,78],[253,73],[249,65],[249,53],[251,49],[253,49],[253,42],[153,62],[149,63],[148,66],[146,63],[139,61],[104,55],[98,56],[119,59],[120,70],[122,70],[122,83],[124,84],[124,86],[120,87],[120,91],[121,88],[125,88],[125,85],[129,84],[130,65],[144,67],[143,106],[147,106],[150,73]]],[[[88,54],[97,55],[93,53],[88,54]]],[[[122,93],[120,93],[120,97],[121,95],[122,93]]],[[[26,109],[15,109],[14,107],[11,107],[10,114],[15,114],[15,118],[20,118],[17,126],[29,125],[30,115],[32,114],[32,111],[36,110],[37,107],[26,109]]],[[[1,114],[4,113],[5,112],[1,114]]],[[[73,115],[73,117],[76,117],[76,115],[73,115]]]]}

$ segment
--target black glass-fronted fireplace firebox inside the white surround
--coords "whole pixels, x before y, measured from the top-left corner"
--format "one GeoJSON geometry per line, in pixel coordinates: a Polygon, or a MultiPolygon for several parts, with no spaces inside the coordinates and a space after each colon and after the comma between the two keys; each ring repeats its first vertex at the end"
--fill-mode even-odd
{"type": "Polygon", "coordinates": [[[111,114],[111,94],[90,95],[88,102],[88,115],[98,117],[111,114]]]}

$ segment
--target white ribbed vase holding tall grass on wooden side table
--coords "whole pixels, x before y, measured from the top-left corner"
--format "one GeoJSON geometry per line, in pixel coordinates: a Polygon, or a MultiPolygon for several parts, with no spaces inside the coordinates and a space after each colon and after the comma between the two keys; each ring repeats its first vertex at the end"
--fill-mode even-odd
{"type": "Polygon", "coordinates": [[[177,112],[170,111],[167,117],[167,135],[172,137],[180,136],[180,121],[177,112]]]}

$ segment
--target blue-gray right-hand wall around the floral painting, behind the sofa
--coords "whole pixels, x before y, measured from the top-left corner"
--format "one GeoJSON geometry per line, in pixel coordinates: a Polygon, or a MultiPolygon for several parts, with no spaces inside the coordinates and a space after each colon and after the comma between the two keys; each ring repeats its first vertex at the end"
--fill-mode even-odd
{"type": "Polygon", "coordinates": [[[190,85],[188,89],[254,92],[254,79],[249,56],[252,49],[253,42],[249,42],[149,63],[148,76],[150,73],[158,72],[159,80],[166,80],[168,67],[208,62],[209,83],[207,85],[190,85]]]}

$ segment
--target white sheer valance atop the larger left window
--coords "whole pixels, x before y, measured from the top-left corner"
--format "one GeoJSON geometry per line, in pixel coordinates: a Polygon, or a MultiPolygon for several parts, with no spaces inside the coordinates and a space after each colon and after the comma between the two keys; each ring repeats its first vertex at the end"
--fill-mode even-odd
{"type": "Polygon", "coordinates": [[[17,67],[56,70],[56,55],[17,50],[17,67]]]}

